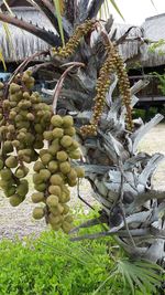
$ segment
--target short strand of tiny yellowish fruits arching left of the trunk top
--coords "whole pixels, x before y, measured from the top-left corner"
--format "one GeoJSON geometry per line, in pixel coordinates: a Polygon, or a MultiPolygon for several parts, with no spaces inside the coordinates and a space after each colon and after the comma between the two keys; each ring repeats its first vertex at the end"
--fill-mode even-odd
{"type": "Polygon", "coordinates": [[[69,57],[79,45],[81,38],[91,32],[95,29],[95,25],[96,20],[86,20],[85,23],[77,25],[74,34],[69,38],[65,48],[53,48],[53,55],[57,55],[64,59],[69,57]]]}

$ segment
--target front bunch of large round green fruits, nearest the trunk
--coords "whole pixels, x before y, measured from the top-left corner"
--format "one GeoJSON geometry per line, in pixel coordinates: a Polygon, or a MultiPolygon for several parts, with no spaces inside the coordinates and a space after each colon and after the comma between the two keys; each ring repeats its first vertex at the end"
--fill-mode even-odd
{"type": "Polygon", "coordinates": [[[84,169],[72,164],[72,159],[79,159],[78,143],[75,135],[72,116],[54,115],[50,130],[44,131],[47,148],[40,151],[40,160],[34,164],[33,182],[37,192],[32,194],[34,203],[43,202],[44,207],[36,207],[33,211],[35,219],[45,217],[54,230],[63,229],[69,232],[72,215],[68,214],[70,200],[68,187],[77,185],[77,179],[84,177],[84,169]]]}

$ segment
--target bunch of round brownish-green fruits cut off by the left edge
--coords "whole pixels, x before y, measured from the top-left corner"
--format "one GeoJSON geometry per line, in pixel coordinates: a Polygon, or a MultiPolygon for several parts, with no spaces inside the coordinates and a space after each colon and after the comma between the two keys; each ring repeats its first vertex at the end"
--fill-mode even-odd
{"type": "Polygon", "coordinates": [[[43,147],[43,135],[37,129],[43,130],[47,118],[51,120],[50,106],[41,103],[37,93],[31,92],[33,86],[30,71],[15,77],[6,99],[4,85],[0,84],[0,186],[12,206],[25,199],[29,191],[28,180],[23,179],[29,172],[25,164],[37,159],[35,148],[43,147]],[[41,117],[42,124],[38,124],[41,117]]]}

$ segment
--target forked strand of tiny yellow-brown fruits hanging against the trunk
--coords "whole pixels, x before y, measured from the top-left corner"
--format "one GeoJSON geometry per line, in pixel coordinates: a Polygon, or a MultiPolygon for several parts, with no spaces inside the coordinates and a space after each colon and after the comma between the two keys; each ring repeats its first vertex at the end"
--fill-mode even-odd
{"type": "Polygon", "coordinates": [[[127,71],[124,69],[123,61],[118,54],[117,48],[110,44],[107,46],[107,59],[99,72],[99,77],[97,81],[97,95],[94,98],[94,114],[90,120],[90,125],[85,125],[80,128],[82,136],[97,135],[97,127],[106,105],[106,94],[109,91],[111,84],[111,74],[117,73],[119,77],[119,91],[122,96],[123,105],[127,108],[127,123],[128,129],[132,130],[132,112],[131,112],[131,93],[130,83],[128,78],[127,71]]]}

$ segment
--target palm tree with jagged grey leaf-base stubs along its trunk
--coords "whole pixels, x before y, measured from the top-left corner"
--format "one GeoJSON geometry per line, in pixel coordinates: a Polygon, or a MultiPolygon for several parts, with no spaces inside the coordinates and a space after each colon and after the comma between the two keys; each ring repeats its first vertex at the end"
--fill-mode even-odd
{"type": "MultiPolygon", "coordinates": [[[[52,76],[58,78],[63,74],[61,82],[65,77],[63,88],[59,86],[61,83],[56,85],[55,98],[57,89],[61,91],[57,112],[65,109],[74,114],[77,136],[84,152],[81,165],[86,170],[86,179],[95,191],[95,198],[101,206],[99,218],[80,224],[74,231],[77,232],[80,228],[94,226],[98,223],[103,225],[103,231],[92,235],[76,236],[73,240],[114,235],[117,242],[131,256],[163,263],[165,259],[165,193],[154,191],[151,183],[152,175],[163,159],[163,155],[157,152],[150,156],[136,150],[141,138],[160,123],[163,116],[157,114],[150,123],[141,126],[134,124],[134,127],[129,126],[133,129],[128,129],[127,119],[130,119],[130,124],[132,122],[129,113],[130,101],[124,101],[123,106],[122,96],[131,94],[133,106],[138,101],[135,94],[144,84],[139,82],[131,88],[131,93],[129,92],[127,74],[118,55],[118,45],[121,40],[116,40],[114,43],[108,39],[112,18],[110,17],[106,23],[95,21],[105,0],[81,0],[79,3],[75,0],[64,1],[62,24],[66,48],[61,50],[54,49],[62,46],[62,28],[58,25],[61,22],[53,1],[33,0],[30,2],[42,10],[57,34],[2,12],[0,12],[0,20],[31,32],[52,46],[51,63],[55,64],[55,72],[52,70],[52,76]],[[97,30],[99,32],[96,33],[95,42],[91,42],[92,31],[97,32],[97,30]],[[76,34],[74,34],[75,31],[76,34]],[[73,34],[74,39],[70,39],[73,34]],[[67,42],[70,42],[69,46],[67,42]],[[108,56],[108,46],[111,48],[112,56],[108,56]],[[67,54],[65,54],[66,49],[67,54]],[[57,54],[59,51],[64,54],[57,54]],[[98,92],[96,83],[108,57],[118,57],[118,63],[116,67],[111,67],[111,71],[108,69],[108,72],[103,67],[108,75],[105,81],[111,81],[111,85],[109,91],[106,91],[103,114],[98,122],[95,120],[91,109],[98,92]],[[67,75],[67,66],[69,66],[69,75],[67,75]],[[127,87],[125,84],[123,85],[123,76],[127,87]],[[121,96],[114,99],[112,92],[117,83],[121,96]],[[97,123],[97,136],[90,133],[81,134],[81,126],[91,127],[94,123],[97,123]]],[[[106,75],[105,72],[102,76],[106,75]]],[[[103,101],[100,104],[103,104],[103,101]]],[[[88,127],[82,130],[87,131],[88,127]]]]}

